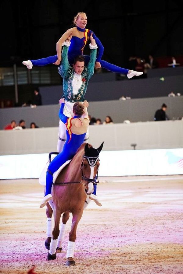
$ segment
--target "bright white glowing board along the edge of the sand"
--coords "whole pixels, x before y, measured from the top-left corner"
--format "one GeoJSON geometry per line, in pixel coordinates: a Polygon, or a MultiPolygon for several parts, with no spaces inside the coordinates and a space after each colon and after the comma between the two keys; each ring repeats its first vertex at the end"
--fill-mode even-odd
{"type": "MultiPolygon", "coordinates": [[[[48,154],[0,156],[0,179],[38,178],[48,154]]],[[[102,151],[99,176],[183,174],[183,149],[102,151]]]]}

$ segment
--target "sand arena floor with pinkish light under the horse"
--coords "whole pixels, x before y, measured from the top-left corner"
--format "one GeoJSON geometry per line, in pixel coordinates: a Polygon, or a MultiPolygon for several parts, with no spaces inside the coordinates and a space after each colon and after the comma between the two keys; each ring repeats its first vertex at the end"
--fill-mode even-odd
{"type": "Polygon", "coordinates": [[[183,175],[108,177],[77,229],[75,266],[66,248],[47,261],[43,187],[38,179],[1,180],[0,273],[183,273],[183,175]]]}

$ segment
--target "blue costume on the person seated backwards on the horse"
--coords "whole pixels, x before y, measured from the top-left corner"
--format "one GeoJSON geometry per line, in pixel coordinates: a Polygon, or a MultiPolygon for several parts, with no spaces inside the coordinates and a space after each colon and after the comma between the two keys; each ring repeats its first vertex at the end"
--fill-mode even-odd
{"type": "MultiPolygon", "coordinates": [[[[59,169],[67,160],[70,160],[74,157],[77,149],[81,146],[81,144],[84,142],[84,137],[86,135],[88,125],[89,125],[89,119],[86,119],[86,123],[84,125],[86,131],[83,134],[74,134],[71,131],[72,127],[72,120],[75,118],[81,118],[81,116],[74,116],[73,118],[69,118],[63,114],[63,108],[64,103],[61,104],[60,111],[59,111],[59,117],[60,120],[63,121],[63,123],[66,125],[66,142],[63,147],[63,151],[59,153],[49,164],[48,170],[46,172],[46,192],[45,196],[48,194],[51,194],[52,190],[52,181],[53,181],[53,173],[59,169]]],[[[81,118],[83,119],[83,118],[81,118]]],[[[84,120],[84,119],[83,119],[84,120]]],[[[84,129],[84,128],[82,128],[84,129]]],[[[93,194],[96,195],[96,185],[94,185],[94,192],[93,194]]]]}

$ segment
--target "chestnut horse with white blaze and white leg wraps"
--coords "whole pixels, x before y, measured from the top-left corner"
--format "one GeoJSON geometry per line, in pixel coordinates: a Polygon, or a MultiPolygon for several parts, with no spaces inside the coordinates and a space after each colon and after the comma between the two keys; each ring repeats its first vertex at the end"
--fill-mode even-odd
{"type": "MultiPolygon", "coordinates": [[[[103,142],[97,149],[93,148],[88,143],[82,144],[71,162],[63,168],[58,175],[55,184],[53,184],[54,228],[52,230],[52,238],[48,237],[45,241],[45,247],[49,249],[47,256],[48,260],[55,260],[56,252],[61,252],[65,225],[69,220],[70,213],[72,213],[72,225],[69,233],[66,265],[75,265],[74,245],[77,225],[81,220],[87,195],[94,191],[93,184],[96,184],[97,181],[99,153],[102,150],[102,147],[103,142]],[[62,223],[59,231],[59,223],[62,214],[62,223]]],[[[49,203],[47,203],[46,206],[47,217],[51,217],[52,208],[49,203]]]]}

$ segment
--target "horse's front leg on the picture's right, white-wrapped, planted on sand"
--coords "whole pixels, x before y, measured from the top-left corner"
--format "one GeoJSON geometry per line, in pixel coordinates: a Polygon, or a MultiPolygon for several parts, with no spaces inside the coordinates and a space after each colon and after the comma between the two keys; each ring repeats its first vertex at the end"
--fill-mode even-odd
{"type": "Polygon", "coordinates": [[[69,242],[68,242],[68,247],[67,247],[67,261],[66,265],[75,265],[74,262],[74,247],[75,247],[75,241],[76,241],[76,230],[77,230],[77,225],[79,221],[81,220],[81,217],[83,215],[83,209],[79,209],[77,212],[73,213],[73,219],[72,219],[72,225],[71,225],[71,230],[69,233],[69,242]]]}

